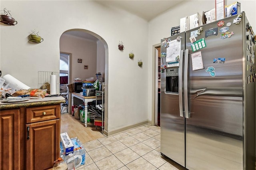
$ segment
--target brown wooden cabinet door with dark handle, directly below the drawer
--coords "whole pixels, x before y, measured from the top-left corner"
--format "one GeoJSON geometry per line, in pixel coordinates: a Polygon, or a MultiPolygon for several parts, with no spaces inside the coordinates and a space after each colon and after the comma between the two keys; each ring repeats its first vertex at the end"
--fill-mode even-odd
{"type": "Polygon", "coordinates": [[[60,119],[26,124],[26,169],[52,168],[60,156],[60,119]]]}

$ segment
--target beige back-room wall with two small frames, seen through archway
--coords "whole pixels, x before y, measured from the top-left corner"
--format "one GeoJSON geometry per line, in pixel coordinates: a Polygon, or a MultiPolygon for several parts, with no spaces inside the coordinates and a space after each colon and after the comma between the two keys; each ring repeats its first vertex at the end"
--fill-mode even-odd
{"type": "MultiPolygon", "coordinates": [[[[104,48],[104,47],[103,47],[104,48]]],[[[62,34],[60,38],[60,51],[71,53],[71,80],[88,77],[95,77],[97,68],[97,42],[62,34]],[[78,63],[82,59],[82,63],[78,63]],[[88,69],[84,69],[88,65],[88,69]]],[[[105,56],[104,56],[105,58],[105,56]]]]}

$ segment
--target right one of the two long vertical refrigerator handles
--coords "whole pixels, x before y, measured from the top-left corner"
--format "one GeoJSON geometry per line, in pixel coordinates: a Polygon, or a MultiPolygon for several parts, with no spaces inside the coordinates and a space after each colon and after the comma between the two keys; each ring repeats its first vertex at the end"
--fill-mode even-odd
{"type": "Polygon", "coordinates": [[[185,117],[189,118],[189,114],[188,114],[188,49],[185,50],[185,58],[184,58],[184,109],[185,109],[185,117]]]}

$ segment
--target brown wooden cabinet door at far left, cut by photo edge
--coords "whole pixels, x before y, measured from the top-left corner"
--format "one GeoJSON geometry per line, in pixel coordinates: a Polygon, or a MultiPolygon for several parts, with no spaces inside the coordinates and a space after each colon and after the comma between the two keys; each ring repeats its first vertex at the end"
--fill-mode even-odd
{"type": "Polygon", "coordinates": [[[20,110],[0,111],[0,169],[20,169],[20,110]]]}

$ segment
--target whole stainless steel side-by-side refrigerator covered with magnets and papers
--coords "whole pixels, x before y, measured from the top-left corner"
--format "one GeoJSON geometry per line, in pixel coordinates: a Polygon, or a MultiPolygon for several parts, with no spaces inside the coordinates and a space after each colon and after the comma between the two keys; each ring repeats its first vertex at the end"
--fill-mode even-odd
{"type": "Polygon", "coordinates": [[[161,154],[254,170],[255,39],[245,13],[161,40],[161,154]]]}

